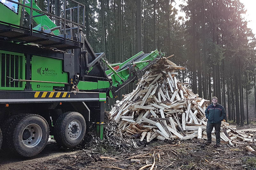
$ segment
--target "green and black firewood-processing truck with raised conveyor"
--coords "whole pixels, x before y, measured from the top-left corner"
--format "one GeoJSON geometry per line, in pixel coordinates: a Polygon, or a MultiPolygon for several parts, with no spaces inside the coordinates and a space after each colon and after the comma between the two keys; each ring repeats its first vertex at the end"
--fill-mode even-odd
{"type": "Polygon", "coordinates": [[[59,12],[44,4],[0,0],[0,148],[23,157],[40,153],[50,135],[76,147],[89,122],[103,139],[108,99],[164,56],[141,51],[110,64],[83,33],[83,4],[64,0],[59,12]]]}

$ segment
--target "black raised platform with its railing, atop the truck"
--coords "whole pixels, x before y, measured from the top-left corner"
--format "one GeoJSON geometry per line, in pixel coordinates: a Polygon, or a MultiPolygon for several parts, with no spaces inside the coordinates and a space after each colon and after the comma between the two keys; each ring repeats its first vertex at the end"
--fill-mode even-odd
{"type": "Polygon", "coordinates": [[[48,11],[41,11],[38,10],[36,8],[33,8],[33,1],[34,0],[30,0],[30,6],[25,5],[25,1],[23,1],[23,4],[19,3],[19,2],[15,2],[12,0],[7,0],[9,2],[12,2],[14,4],[18,4],[20,5],[20,7],[22,8],[22,16],[23,19],[27,19],[30,18],[29,20],[29,24],[30,27],[23,27],[23,26],[17,26],[14,24],[10,24],[10,23],[6,23],[3,21],[0,21],[0,30],[2,30],[1,36],[5,38],[5,40],[9,40],[9,41],[17,41],[17,42],[21,42],[21,43],[37,43],[39,45],[41,45],[42,47],[46,47],[46,48],[55,48],[58,50],[67,50],[67,49],[73,49],[73,48],[81,48],[83,46],[83,43],[80,42],[79,40],[79,36],[77,36],[77,40],[75,41],[75,37],[72,38],[68,38],[66,36],[67,32],[66,32],[66,23],[71,23],[72,25],[76,26],[76,28],[71,27],[70,29],[67,28],[67,30],[73,30],[73,29],[77,29],[77,33],[80,35],[80,28],[81,27],[85,27],[85,19],[84,19],[84,14],[85,14],[85,6],[79,2],[76,2],[74,0],[64,0],[64,11],[62,11],[64,13],[64,18],[60,17],[60,16],[56,16],[54,14],[51,14],[50,12],[50,0],[47,0],[47,4],[48,4],[48,11]],[[77,6],[73,7],[73,8],[68,8],[66,9],[67,6],[67,1],[71,1],[74,2],[75,4],[77,4],[77,6]],[[29,17],[24,17],[25,16],[25,7],[30,9],[30,14],[29,17]],[[83,23],[80,24],[80,8],[83,8],[83,23]],[[66,18],[66,11],[70,10],[70,9],[77,9],[77,22],[71,21],[69,19],[66,18]],[[41,13],[40,15],[36,15],[33,16],[33,11],[36,11],[38,13],[41,13]],[[55,19],[55,20],[60,20],[62,23],[64,23],[64,28],[61,30],[63,31],[63,37],[61,36],[57,36],[57,35],[53,35],[50,33],[45,33],[44,31],[37,31],[37,30],[33,30],[33,20],[32,18],[38,17],[38,16],[42,16],[42,15],[46,15],[51,19],[55,19]],[[7,25],[6,25],[7,24],[7,25]],[[19,32],[18,36],[9,36],[7,35],[7,33],[12,32],[13,34],[15,34],[14,32],[19,32]],[[27,41],[26,41],[27,40],[27,41]],[[29,40],[29,41],[28,41],[29,40]],[[50,41],[52,43],[47,42],[48,44],[46,44],[46,41],[50,41]]]}

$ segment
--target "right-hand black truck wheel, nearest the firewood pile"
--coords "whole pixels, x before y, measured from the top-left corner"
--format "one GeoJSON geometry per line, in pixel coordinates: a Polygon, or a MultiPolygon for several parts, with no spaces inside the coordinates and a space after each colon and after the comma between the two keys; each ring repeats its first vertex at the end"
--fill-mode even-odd
{"type": "Polygon", "coordinates": [[[78,112],[66,112],[54,125],[54,138],[58,145],[74,148],[80,144],[86,132],[84,116],[78,112]]]}

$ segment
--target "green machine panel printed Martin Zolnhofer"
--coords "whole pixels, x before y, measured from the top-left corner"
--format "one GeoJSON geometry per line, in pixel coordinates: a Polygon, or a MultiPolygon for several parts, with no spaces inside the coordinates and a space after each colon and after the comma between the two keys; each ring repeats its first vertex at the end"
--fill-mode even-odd
{"type": "MultiPolygon", "coordinates": [[[[62,71],[62,60],[33,55],[31,79],[67,83],[68,74],[62,71]]],[[[34,91],[52,91],[53,86],[64,87],[64,84],[31,82],[31,86],[34,91]]]]}

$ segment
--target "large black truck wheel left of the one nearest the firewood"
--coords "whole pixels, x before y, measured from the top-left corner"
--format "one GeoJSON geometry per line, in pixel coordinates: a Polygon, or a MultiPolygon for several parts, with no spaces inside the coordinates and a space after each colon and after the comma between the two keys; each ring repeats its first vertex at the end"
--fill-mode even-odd
{"type": "Polygon", "coordinates": [[[11,123],[5,130],[4,140],[6,140],[8,152],[23,157],[31,157],[40,153],[49,138],[48,123],[42,116],[36,114],[11,117],[11,123]]]}

